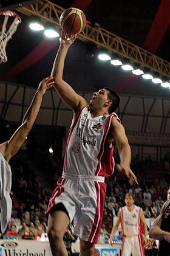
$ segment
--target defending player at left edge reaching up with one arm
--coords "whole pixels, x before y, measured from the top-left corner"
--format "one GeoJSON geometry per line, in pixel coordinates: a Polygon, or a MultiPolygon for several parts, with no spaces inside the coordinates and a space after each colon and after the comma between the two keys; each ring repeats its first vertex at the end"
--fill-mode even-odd
{"type": "Polygon", "coordinates": [[[13,136],[8,140],[0,144],[0,224],[1,233],[5,232],[7,223],[10,220],[12,212],[12,199],[10,198],[11,190],[11,169],[9,161],[13,157],[22,144],[25,138],[32,129],[32,125],[35,122],[36,116],[38,115],[39,108],[41,106],[42,97],[46,93],[46,90],[53,86],[53,78],[47,77],[39,83],[38,89],[35,92],[32,103],[29,109],[25,113],[24,119],[22,120],[21,126],[15,131],[13,136]]]}

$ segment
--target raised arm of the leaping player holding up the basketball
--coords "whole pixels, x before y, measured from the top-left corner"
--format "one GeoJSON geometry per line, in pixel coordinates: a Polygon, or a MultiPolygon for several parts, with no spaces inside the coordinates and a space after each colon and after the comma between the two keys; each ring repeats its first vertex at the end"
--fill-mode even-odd
{"type": "Polygon", "coordinates": [[[66,32],[61,31],[60,47],[56,54],[51,73],[55,81],[54,88],[60,95],[63,102],[65,102],[74,112],[78,112],[80,108],[87,105],[86,100],[78,95],[77,92],[75,92],[73,88],[63,80],[64,62],[67,51],[76,38],[77,35],[72,35],[69,38],[69,35],[67,35],[66,32]]]}

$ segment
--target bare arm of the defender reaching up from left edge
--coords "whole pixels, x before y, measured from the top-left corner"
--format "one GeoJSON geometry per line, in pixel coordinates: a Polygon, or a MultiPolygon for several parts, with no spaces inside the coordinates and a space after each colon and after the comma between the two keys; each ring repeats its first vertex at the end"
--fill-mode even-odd
{"type": "Polygon", "coordinates": [[[10,158],[17,153],[19,148],[21,148],[22,144],[24,143],[25,138],[32,129],[33,123],[38,115],[42,97],[46,93],[47,89],[52,88],[53,83],[53,77],[44,78],[41,83],[39,83],[32,103],[30,104],[29,109],[25,113],[24,119],[22,120],[21,126],[19,126],[9,141],[0,145],[0,151],[7,162],[10,161],[10,158]]]}

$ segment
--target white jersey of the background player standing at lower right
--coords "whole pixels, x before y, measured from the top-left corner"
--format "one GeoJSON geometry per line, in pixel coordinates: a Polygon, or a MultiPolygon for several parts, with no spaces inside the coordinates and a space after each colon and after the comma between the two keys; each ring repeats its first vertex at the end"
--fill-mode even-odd
{"type": "Polygon", "coordinates": [[[126,206],[121,207],[121,227],[124,236],[141,235],[142,225],[140,218],[141,208],[134,206],[130,212],[126,206]]]}

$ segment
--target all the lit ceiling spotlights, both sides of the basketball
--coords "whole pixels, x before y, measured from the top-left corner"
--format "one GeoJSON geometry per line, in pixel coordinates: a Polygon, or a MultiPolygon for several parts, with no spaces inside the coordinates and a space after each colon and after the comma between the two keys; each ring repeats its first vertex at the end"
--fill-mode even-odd
{"type": "MultiPolygon", "coordinates": [[[[55,38],[60,36],[60,34],[56,30],[45,29],[45,27],[42,26],[42,24],[39,24],[39,22],[32,22],[30,23],[29,27],[30,29],[35,31],[44,30],[44,35],[49,38],[55,38]]],[[[134,67],[132,67],[131,65],[123,64],[120,60],[112,60],[108,54],[99,54],[98,58],[103,61],[110,61],[110,63],[114,66],[121,66],[124,71],[132,71],[134,75],[141,75],[146,80],[152,80],[153,83],[160,84],[162,87],[170,89],[169,81],[163,82],[160,78],[154,78],[151,74],[144,74],[141,69],[134,69],[134,67]]]]}

